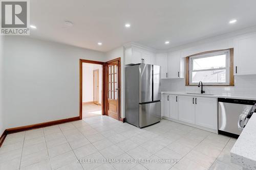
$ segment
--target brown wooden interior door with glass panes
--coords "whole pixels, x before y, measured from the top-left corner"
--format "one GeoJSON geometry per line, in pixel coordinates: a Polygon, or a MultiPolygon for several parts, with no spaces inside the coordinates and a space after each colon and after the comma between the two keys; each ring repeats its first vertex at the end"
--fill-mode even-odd
{"type": "Polygon", "coordinates": [[[107,91],[106,115],[119,120],[119,61],[106,64],[107,91]]]}

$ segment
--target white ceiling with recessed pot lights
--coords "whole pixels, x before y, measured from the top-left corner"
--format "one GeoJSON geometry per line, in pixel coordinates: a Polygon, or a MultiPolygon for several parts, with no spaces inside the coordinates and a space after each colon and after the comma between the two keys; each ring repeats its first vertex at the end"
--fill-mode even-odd
{"type": "Polygon", "coordinates": [[[102,52],[129,42],[167,49],[256,25],[255,0],[30,2],[31,24],[37,27],[32,37],[102,52]],[[238,21],[230,25],[233,18],[238,21]],[[65,26],[66,20],[73,27],[65,26]],[[127,22],[129,29],[124,27],[127,22]]]}

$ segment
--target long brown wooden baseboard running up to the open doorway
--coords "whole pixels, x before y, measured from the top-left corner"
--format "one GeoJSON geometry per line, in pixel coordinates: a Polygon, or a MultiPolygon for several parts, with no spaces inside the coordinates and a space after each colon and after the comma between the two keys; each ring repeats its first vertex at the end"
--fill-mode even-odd
{"type": "Polygon", "coordinates": [[[34,124],[34,125],[27,125],[27,126],[22,126],[22,127],[17,127],[17,128],[10,128],[10,129],[6,129],[6,132],[7,132],[7,134],[16,133],[16,132],[26,131],[26,130],[30,130],[30,129],[44,128],[44,127],[53,126],[53,125],[57,125],[57,124],[72,122],[72,121],[79,120],[79,119],[80,119],[79,116],[78,117],[65,118],[65,119],[60,119],[60,120],[54,120],[54,121],[51,121],[51,122],[45,122],[45,123],[34,124]]]}

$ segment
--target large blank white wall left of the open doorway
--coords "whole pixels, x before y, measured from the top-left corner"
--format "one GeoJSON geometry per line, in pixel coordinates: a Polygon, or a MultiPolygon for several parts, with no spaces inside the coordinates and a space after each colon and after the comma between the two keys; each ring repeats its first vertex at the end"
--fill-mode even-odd
{"type": "Polygon", "coordinates": [[[79,59],[104,53],[23,36],[4,39],[5,128],[79,116],[79,59]]]}

